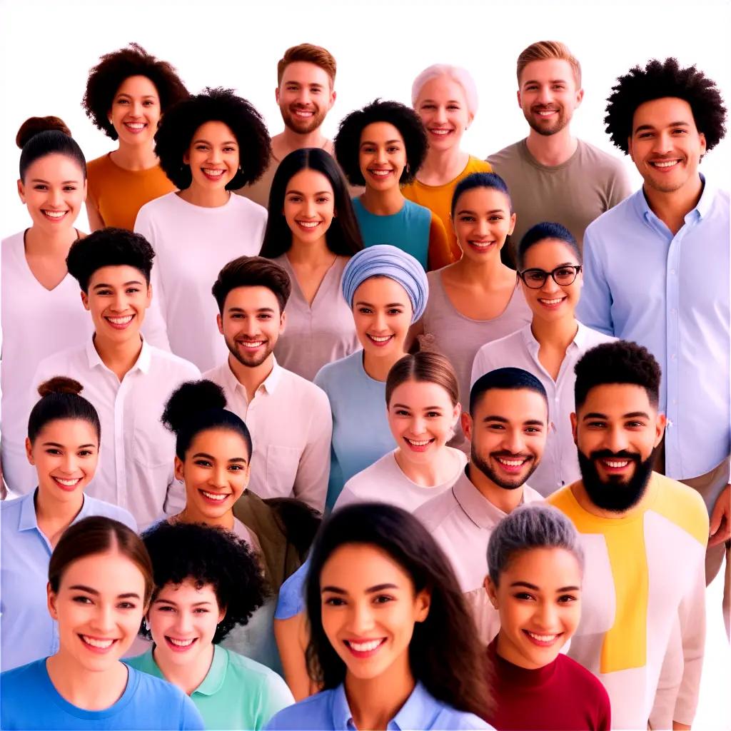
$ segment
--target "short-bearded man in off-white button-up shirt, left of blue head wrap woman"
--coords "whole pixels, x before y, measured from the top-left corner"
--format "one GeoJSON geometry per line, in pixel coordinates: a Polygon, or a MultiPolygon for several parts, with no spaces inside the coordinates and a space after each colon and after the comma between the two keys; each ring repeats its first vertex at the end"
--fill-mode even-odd
{"type": "Polygon", "coordinates": [[[221,269],[212,292],[229,356],[203,378],[224,390],[227,409],[249,428],[249,489],[261,498],[294,497],[322,512],[330,476],[330,402],[273,354],[291,289],[287,272],[262,257],[239,257],[221,269]]]}

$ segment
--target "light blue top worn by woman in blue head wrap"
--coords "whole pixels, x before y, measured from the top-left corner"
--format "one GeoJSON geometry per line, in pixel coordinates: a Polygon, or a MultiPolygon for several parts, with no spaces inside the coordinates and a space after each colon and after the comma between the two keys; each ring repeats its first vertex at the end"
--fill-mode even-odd
{"type": "Polygon", "coordinates": [[[363,368],[363,349],[322,366],[314,384],[330,399],[333,442],[325,507],[332,510],[345,483],[370,467],[396,443],[386,416],[386,382],[363,368]]]}

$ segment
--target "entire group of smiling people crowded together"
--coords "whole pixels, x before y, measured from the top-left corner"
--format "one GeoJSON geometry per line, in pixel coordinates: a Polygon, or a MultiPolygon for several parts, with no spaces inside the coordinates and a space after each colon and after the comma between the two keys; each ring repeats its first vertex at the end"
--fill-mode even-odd
{"type": "Polygon", "coordinates": [[[0,726],[689,728],[729,584],[719,91],[618,78],[629,195],[561,43],[490,162],[464,69],[331,143],[335,75],[287,50],[270,137],[132,44],[83,99],[118,148],[18,132],[0,726]]]}

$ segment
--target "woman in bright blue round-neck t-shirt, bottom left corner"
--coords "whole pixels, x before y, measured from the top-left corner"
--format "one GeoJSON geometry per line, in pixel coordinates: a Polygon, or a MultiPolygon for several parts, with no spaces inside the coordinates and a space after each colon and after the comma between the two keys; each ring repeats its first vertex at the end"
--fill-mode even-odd
{"type": "Polygon", "coordinates": [[[48,564],[58,652],[0,675],[3,729],[202,729],[192,700],[121,662],[152,593],[143,542],[94,516],[61,536],[48,564]]]}

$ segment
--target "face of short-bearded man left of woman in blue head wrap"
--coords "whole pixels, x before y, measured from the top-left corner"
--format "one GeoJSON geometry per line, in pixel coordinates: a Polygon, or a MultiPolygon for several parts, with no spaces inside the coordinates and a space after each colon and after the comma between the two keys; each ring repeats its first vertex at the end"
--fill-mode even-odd
{"type": "Polygon", "coordinates": [[[216,322],[229,352],[247,368],[261,366],[284,332],[285,315],[268,287],[236,287],[216,322]]]}

